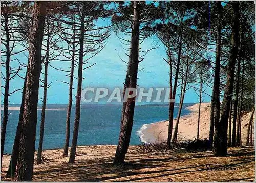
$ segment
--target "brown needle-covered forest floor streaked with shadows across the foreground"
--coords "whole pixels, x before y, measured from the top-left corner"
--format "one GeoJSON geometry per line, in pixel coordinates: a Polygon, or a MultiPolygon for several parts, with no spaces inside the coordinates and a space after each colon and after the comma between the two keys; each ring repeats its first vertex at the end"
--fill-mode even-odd
{"type": "MultiPolygon", "coordinates": [[[[79,146],[74,164],[61,157],[62,149],[45,150],[47,161],[34,166],[33,181],[143,181],[143,182],[214,182],[254,181],[254,147],[228,148],[228,155],[218,157],[212,151],[185,149],[139,153],[130,146],[125,164],[113,165],[116,146],[79,146]],[[213,168],[213,169],[212,169],[213,168]]],[[[36,156],[35,156],[36,157],[36,156]]],[[[2,180],[10,155],[4,155],[2,180]]]]}

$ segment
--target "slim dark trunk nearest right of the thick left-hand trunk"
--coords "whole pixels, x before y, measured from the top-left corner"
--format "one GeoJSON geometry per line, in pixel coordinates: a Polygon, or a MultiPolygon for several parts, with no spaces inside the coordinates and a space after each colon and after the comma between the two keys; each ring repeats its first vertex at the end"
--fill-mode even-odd
{"type": "Polygon", "coordinates": [[[48,75],[48,61],[49,61],[49,44],[50,35],[47,35],[46,45],[46,61],[45,61],[45,72],[44,72],[44,96],[42,97],[42,113],[41,113],[41,124],[40,124],[40,137],[37,151],[36,163],[40,164],[42,159],[42,144],[44,142],[44,129],[45,129],[45,116],[46,116],[46,101],[47,101],[47,75],[48,75]]]}

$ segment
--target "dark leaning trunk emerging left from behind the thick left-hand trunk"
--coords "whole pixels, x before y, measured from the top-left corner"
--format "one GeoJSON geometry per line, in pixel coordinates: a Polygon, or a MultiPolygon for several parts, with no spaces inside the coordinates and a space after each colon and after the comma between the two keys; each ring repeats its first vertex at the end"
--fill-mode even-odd
{"type": "Polygon", "coordinates": [[[24,78],[23,91],[22,91],[22,102],[20,103],[18,126],[17,126],[17,130],[16,130],[13,148],[12,148],[10,164],[9,164],[9,168],[8,168],[8,171],[6,174],[7,177],[11,177],[11,176],[15,175],[15,169],[17,166],[18,154],[19,154],[19,136],[20,136],[20,127],[21,127],[21,123],[22,123],[22,119],[23,119],[23,112],[24,112],[26,82],[27,82],[27,72],[26,72],[26,76],[24,78]]]}

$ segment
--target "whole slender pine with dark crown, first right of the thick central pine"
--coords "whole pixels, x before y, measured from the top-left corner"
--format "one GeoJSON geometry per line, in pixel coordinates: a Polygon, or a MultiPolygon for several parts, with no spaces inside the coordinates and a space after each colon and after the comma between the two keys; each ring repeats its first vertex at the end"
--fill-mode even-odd
{"type": "MultiPolygon", "coordinates": [[[[186,33],[191,32],[191,19],[196,15],[195,11],[190,11],[193,9],[193,4],[191,2],[166,2],[161,3],[161,29],[159,31],[158,37],[161,42],[166,47],[166,54],[168,56],[167,63],[175,60],[174,64],[170,65],[175,72],[170,72],[170,94],[169,98],[175,100],[176,91],[178,87],[178,79],[181,65],[181,57],[187,52],[189,39],[186,33]],[[173,21],[175,20],[175,21],[173,21]],[[187,32],[186,32],[187,31],[187,32]],[[186,44],[187,43],[187,44],[186,44]],[[185,46],[184,46],[185,45],[185,46]],[[184,49],[185,47],[186,49],[184,49]],[[173,57],[173,58],[172,58],[173,57]],[[174,73],[174,74],[173,74],[174,73]],[[174,83],[172,78],[174,77],[174,83]]],[[[195,37],[196,34],[194,34],[195,37]]],[[[191,36],[193,37],[193,36],[191,36]]],[[[190,37],[190,38],[191,38],[190,37]]],[[[195,44],[195,37],[193,37],[193,44],[195,44]]],[[[190,45],[191,46],[191,45],[190,45]]],[[[184,88],[183,88],[184,89],[184,88]]],[[[186,89],[184,90],[186,91],[186,89]]],[[[182,106],[182,105],[181,105],[182,106]]],[[[172,134],[173,134],[173,117],[174,117],[174,103],[169,104],[169,126],[168,126],[168,138],[167,146],[170,149],[172,144],[172,134]]],[[[178,126],[176,127],[176,129],[178,126]]],[[[177,132],[177,130],[175,131],[177,132]]],[[[176,133],[175,133],[176,134],[176,133]]],[[[176,139],[174,135],[173,140],[176,139]]]]}

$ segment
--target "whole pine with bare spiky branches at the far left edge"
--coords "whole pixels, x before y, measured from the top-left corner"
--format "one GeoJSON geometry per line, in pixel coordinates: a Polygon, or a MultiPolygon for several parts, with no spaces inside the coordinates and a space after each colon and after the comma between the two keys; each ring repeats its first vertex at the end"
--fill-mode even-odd
{"type": "Polygon", "coordinates": [[[21,90],[16,89],[14,91],[10,91],[10,81],[15,79],[15,76],[18,75],[20,71],[20,66],[13,67],[12,62],[18,61],[16,57],[17,54],[24,52],[27,50],[24,47],[21,50],[18,50],[16,47],[20,44],[21,41],[24,40],[22,36],[19,34],[19,26],[18,22],[23,19],[23,17],[17,17],[16,14],[20,9],[23,9],[23,4],[19,4],[18,2],[2,2],[1,3],[1,65],[2,68],[5,68],[5,74],[1,71],[1,78],[5,81],[4,85],[1,87],[4,90],[4,101],[3,101],[3,116],[2,116],[2,125],[1,125],[1,168],[2,168],[2,159],[4,153],[4,146],[5,146],[5,136],[6,136],[6,127],[9,112],[8,112],[8,103],[9,103],[9,96],[11,96],[16,91],[21,90]]]}

